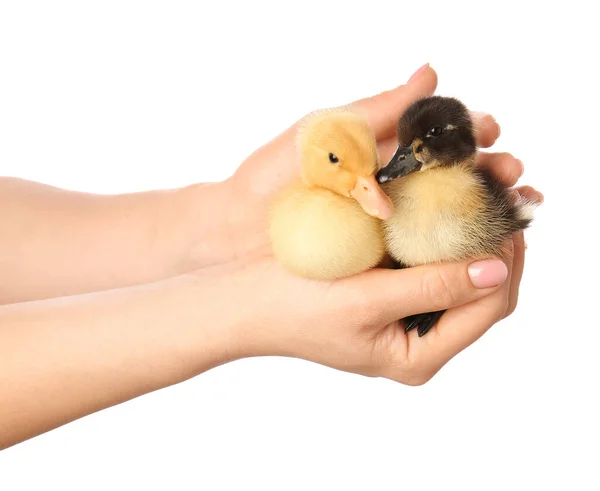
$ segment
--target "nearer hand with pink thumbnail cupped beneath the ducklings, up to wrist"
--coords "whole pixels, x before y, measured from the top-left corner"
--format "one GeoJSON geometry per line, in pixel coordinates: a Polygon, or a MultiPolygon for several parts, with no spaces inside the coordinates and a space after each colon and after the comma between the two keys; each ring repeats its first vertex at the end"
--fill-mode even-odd
{"type": "Polygon", "coordinates": [[[377,268],[333,282],[292,276],[269,257],[240,263],[227,272],[228,303],[239,309],[231,358],[289,356],[421,385],[516,308],[522,232],[506,250],[502,260],[377,268]],[[424,337],[398,321],[445,309],[424,337]]]}

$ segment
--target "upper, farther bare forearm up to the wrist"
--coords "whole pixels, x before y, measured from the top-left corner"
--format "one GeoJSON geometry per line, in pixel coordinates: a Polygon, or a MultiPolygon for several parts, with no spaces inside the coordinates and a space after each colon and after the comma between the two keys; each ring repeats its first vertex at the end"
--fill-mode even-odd
{"type": "Polygon", "coordinates": [[[218,261],[226,189],[95,195],[0,178],[0,304],[142,284],[218,261]]]}

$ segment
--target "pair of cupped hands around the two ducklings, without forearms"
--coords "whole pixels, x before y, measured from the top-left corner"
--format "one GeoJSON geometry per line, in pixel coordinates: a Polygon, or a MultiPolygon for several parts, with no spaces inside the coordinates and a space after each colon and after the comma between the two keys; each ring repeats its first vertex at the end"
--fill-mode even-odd
{"type": "MultiPolygon", "coordinates": [[[[399,115],[435,91],[437,75],[426,66],[408,83],[351,103],[372,125],[386,162],[395,146],[399,115]]],[[[477,141],[488,148],[500,135],[489,115],[475,114],[477,141]]],[[[311,281],[284,271],[273,259],[267,214],[273,196],[299,175],[296,125],[251,155],[230,180],[229,236],[235,258],[228,289],[238,306],[236,355],[299,357],[337,369],[418,385],[482,336],[516,307],[524,266],[523,234],[508,241],[497,260],[430,265],[404,270],[373,269],[353,277],[311,281]],[[398,319],[447,310],[424,337],[405,333],[398,319]]],[[[488,167],[513,186],[522,163],[507,153],[480,152],[488,167]]],[[[529,199],[542,195],[520,188],[529,199]]],[[[211,272],[210,274],[215,274],[211,272]]]]}

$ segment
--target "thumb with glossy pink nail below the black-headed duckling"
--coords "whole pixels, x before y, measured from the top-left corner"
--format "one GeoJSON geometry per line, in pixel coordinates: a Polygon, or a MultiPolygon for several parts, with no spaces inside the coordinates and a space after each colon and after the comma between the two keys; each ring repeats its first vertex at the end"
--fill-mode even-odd
{"type": "Polygon", "coordinates": [[[499,259],[418,266],[402,270],[373,269],[347,278],[359,304],[373,320],[388,324],[409,315],[464,305],[498,289],[508,276],[499,259]]]}

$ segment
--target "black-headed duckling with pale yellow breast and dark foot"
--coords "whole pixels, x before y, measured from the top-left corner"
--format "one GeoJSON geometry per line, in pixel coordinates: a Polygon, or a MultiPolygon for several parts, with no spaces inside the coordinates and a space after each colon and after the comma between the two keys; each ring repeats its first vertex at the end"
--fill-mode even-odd
{"type": "MultiPolygon", "coordinates": [[[[416,101],[401,116],[397,138],[377,182],[394,205],[383,231],[399,267],[492,258],[511,234],[531,224],[536,204],[515,199],[490,172],[474,166],[474,122],[458,99],[416,101]]],[[[418,328],[423,336],[443,313],[411,316],[405,330],[418,328]]]]}

